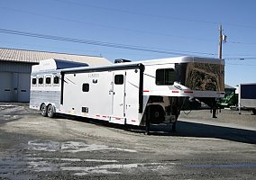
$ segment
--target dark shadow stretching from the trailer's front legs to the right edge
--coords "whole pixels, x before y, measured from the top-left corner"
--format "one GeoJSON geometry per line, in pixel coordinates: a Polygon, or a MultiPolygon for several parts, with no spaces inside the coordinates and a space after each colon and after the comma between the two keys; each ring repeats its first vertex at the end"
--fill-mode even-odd
{"type": "Polygon", "coordinates": [[[151,135],[214,138],[256,144],[255,130],[242,130],[187,121],[178,121],[177,123],[177,132],[169,131],[166,133],[168,131],[166,127],[155,126],[151,128],[151,135]]]}

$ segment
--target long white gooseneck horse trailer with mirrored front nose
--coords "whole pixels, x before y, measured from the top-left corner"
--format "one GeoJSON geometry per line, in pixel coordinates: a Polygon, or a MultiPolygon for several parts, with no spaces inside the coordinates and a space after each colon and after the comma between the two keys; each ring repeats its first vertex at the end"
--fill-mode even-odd
{"type": "Polygon", "coordinates": [[[145,126],[146,132],[150,124],[167,123],[175,130],[185,98],[214,109],[216,98],[224,97],[224,60],[180,57],[61,68],[50,59],[32,67],[31,81],[30,107],[43,116],[69,114],[145,126]]]}

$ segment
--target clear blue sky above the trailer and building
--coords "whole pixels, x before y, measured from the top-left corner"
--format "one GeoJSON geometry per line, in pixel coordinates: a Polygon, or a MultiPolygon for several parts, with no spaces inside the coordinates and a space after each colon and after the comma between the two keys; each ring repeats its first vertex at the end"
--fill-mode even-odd
{"type": "Polygon", "coordinates": [[[254,0],[0,0],[0,47],[102,56],[111,61],[183,55],[218,58],[223,24],[225,83],[255,83],[255,7],[254,0]]]}

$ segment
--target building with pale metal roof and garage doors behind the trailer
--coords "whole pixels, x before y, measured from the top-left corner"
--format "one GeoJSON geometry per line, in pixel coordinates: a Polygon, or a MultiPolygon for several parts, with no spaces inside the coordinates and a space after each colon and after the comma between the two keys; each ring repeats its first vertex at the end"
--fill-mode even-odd
{"type": "Polygon", "coordinates": [[[0,102],[29,102],[32,65],[49,58],[84,62],[88,66],[112,64],[101,57],[0,48],[0,102]]]}

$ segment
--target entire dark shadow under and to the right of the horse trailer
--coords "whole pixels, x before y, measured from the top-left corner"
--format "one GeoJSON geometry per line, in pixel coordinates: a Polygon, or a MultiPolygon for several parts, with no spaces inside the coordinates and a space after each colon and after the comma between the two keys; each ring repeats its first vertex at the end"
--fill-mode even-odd
{"type": "MultiPolygon", "coordinates": [[[[66,116],[67,118],[67,116],[66,116]]],[[[83,121],[87,123],[94,123],[98,126],[105,126],[108,128],[128,130],[133,133],[145,132],[144,127],[132,126],[132,125],[120,125],[110,123],[108,121],[98,121],[88,118],[78,118],[70,116],[69,119],[73,121],[83,121]]],[[[242,130],[232,127],[222,127],[215,125],[208,125],[197,122],[178,121],[177,132],[171,131],[171,126],[167,125],[151,125],[151,136],[169,136],[169,137],[194,137],[194,138],[213,138],[213,139],[225,139],[236,142],[256,144],[256,130],[242,130]]]]}

